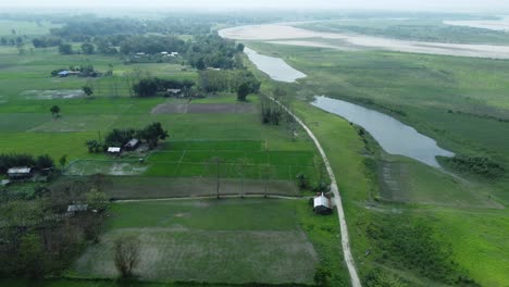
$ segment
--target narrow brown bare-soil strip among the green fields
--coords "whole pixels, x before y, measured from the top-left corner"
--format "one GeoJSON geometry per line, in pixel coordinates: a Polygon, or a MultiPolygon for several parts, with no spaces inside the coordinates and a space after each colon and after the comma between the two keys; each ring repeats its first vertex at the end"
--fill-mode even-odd
{"type": "Polygon", "coordinates": [[[161,103],[152,109],[152,114],[173,113],[256,113],[257,107],[251,103],[161,103]]]}

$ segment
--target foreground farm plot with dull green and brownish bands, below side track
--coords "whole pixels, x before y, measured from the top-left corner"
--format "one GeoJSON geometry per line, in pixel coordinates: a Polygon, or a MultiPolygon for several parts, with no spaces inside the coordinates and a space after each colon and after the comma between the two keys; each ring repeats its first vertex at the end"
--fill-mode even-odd
{"type": "Polygon", "coordinates": [[[129,202],[112,207],[107,232],[76,261],[74,273],[116,277],[113,240],[138,236],[146,280],[312,283],[313,245],[296,204],[282,200],[129,202]]]}

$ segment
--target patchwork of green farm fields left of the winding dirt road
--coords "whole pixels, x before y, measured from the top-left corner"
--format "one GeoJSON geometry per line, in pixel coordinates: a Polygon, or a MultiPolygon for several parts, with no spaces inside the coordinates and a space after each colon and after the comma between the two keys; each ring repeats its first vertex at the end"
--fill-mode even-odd
{"type": "MultiPolygon", "coordinates": [[[[34,28],[34,35],[38,33],[44,32],[34,28]]],[[[94,188],[91,176],[103,174],[101,190],[116,201],[100,244],[85,247],[61,278],[37,286],[114,286],[119,274],[112,242],[123,234],[144,242],[144,261],[136,271],[140,282],[133,286],[179,286],[175,282],[193,286],[193,280],[216,286],[312,284],[322,265],[331,269],[332,282],[345,285],[337,219],[314,215],[306,198],[312,192],[297,187],[300,173],[311,183],[318,178],[316,152],[306,133],[298,130],[294,139],[285,125],[262,125],[253,95],[243,104],[234,93],[190,103],[132,97],[124,75],[134,71],[197,78],[196,71],[182,71],[179,64],[124,65],[117,55],[61,55],[55,48],[29,47],[18,54],[14,48],[0,47],[0,152],[47,153],[55,161],[66,155],[63,175],[49,183],[50,188],[71,186],[87,192],[94,188]],[[50,75],[57,68],[85,64],[99,72],[111,68],[113,76],[50,75]],[[91,97],[80,91],[85,85],[94,88],[91,97]],[[60,107],[61,117],[51,115],[52,105],[60,107]],[[187,107],[191,112],[166,109],[174,105],[191,105],[187,107]],[[164,111],[154,113],[158,107],[164,111]],[[160,122],[170,134],[154,151],[120,158],[87,151],[87,140],[104,137],[113,128],[141,128],[152,122],[160,122]],[[215,197],[216,172],[210,164],[215,157],[222,159],[223,199],[165,200],[215,197]],[[157,200],[147,201],[151,199],[157,200]]],[[[0,280],[2,286],[25,284],[34,283],[0,280]]]]}

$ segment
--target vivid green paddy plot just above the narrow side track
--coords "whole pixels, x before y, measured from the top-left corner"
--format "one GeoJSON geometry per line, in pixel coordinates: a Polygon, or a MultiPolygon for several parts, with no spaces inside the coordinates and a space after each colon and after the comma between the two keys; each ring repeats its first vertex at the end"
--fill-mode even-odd
{"type": "Polygon", "coordinates": [[[171,142],[152,153],[146,175],[163,177],[215,177],[220,159],[220,176],[227,178],[286,179],[298,174],[315,175],[314,152],[265,150],[262,141],[189,141],[171,142]]]}

